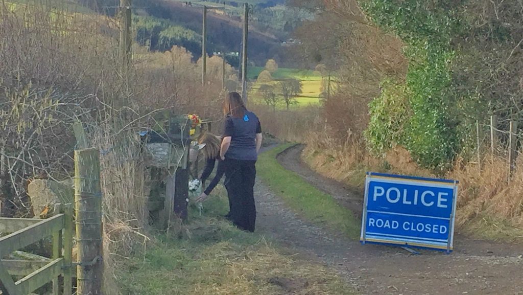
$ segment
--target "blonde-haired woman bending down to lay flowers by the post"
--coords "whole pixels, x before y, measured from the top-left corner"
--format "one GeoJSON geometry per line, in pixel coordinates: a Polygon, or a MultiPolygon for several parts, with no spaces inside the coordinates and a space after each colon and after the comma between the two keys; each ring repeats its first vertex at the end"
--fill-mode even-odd
{"type": "MultiPolygon", "coordinates": [[[[212,170],[214,170],[216,161],[218,161],[218,168],[216,169],[216,174],[207,186],[207,188],[200,194],[199,198],[197,199],[198,202],[202,202],[207,199],[209,194],[211,194],[212,190],[220,182],[220,180],[223,177],[223,174],[225,173],[225,161],[223,161],[220,158],[221,142],[222,140],[220,137],[208,132],[204,133],[198,140],[198,144],[203,146],[201,148],[201,151],[203,152],[203,156],[206,159],[205,168],[203,169],[203,172],[201,173],[200,177],[200,181],[202,184],[204,184],[205,181],[209,178],[209,176],[212,173],[212,170]]],[[[230,200],[229,209],[232,210],[230,200]]],[[[230,212],[225,217],[229,216],[230,212]]]]}

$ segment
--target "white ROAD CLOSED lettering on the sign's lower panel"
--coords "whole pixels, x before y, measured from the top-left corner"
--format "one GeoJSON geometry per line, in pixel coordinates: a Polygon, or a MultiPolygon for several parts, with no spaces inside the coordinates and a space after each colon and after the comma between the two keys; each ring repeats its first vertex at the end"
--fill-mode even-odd
{"type": "Polygon", "coordinates": [[[418,233],[432,233],[432,234],[447,234],[448,227],[446,225],[419,222],[419,221],[398,221],[389,218],[373,218],[369,217],[368,227],[378,229],[400,230],[405,232],[418,233]]]}

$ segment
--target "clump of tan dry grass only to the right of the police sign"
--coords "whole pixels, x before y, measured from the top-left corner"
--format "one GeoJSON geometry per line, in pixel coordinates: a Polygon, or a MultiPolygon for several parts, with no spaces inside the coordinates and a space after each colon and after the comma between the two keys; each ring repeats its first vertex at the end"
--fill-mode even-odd
{"type": "MultiPolygon", "coordinates": [[[[447,174],[460,181],[457,224],[487,237],[497,237],[497,232],[500,238],[523,238],[523,171],[517,169],[508,183],[506,160],[487,159],[481,171],[458,163],[447,174]]],[[[519,158],[516,167],[521,165],[519,158]]]]}

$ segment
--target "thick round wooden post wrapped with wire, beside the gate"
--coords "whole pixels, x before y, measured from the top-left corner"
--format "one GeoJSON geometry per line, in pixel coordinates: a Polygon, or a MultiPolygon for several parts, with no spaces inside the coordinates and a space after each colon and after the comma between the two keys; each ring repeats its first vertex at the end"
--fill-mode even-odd
{"type": "Polygon", "coordinates": [[[77,294],[101,295],[103,240],[98,149],[75,150],[74,171],[78,242],[77,294]]]}

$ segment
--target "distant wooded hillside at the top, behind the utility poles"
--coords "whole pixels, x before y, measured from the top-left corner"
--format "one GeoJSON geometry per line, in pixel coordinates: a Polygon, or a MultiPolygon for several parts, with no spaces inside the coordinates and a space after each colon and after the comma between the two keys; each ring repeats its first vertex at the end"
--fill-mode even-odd
{"type": "MultiPolygon", "coordinates": [[[[249,18],[249,62],[264,64],[270,58],[284,62],[282,41],[289,38],[293,28],[298,27],[302,19],[310,18],[311,15],[285,6],[282,0],[247,2],[252,5],[249,18]]],[[[115,16],[119,1],[78,0],[78,4],[99,13],[115,16]]],[[[147,23],[136,28],[137,41],[142,46],[149,46],[153,51],[165,51],[172,46],[185,47],[195,60],[198,59],[201,56],[203,5],[223,7],[222,2],[212,1],[133,1],[134,23],[147,23]],[[137,20],[137,16],[145,19],[137,20]]],[[[241,51],[243,10],[243,2],[225,2],[225,13],[221,9],[208,10],[209,55],[213,52],[241,51]]],[[[228,62],[237,67],[239,60],[237,57],[230,58],[228,62]]]]}

